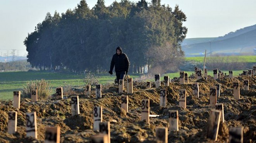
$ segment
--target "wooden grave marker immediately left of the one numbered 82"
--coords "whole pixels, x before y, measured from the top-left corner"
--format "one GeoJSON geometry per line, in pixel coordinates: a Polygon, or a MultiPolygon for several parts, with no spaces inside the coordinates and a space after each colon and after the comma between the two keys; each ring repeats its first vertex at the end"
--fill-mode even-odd
{"type": "Polygon", "coordinates": [[[8,112],[8,133],[15,134],[17,131],[17,112],[8,112]]]}

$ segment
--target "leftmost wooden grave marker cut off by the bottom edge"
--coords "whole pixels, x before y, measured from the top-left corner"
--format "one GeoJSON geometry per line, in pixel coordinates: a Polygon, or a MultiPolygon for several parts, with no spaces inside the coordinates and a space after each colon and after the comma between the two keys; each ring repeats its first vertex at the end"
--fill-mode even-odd
{"type": "Polygon", "coordinates": [[[45,143],[60,143],[61,127],[45,127],[45,143]]]}

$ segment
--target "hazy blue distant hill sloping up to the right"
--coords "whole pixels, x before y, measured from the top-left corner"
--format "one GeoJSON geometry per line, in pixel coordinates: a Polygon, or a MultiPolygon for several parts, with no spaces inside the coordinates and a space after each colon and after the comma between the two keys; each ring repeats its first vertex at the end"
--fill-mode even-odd
{"type": "Polygon", "coordinates": [[[185,39],[182,43],[186,56],[200,56],[205,49],[208,54],[252,55],[255,54],[254,48],[256,48],[256,25],[230,32],[222,37],[191,38],[185,39]]]}

